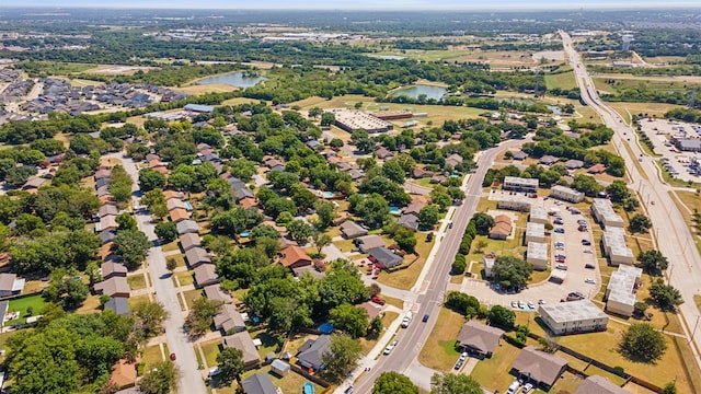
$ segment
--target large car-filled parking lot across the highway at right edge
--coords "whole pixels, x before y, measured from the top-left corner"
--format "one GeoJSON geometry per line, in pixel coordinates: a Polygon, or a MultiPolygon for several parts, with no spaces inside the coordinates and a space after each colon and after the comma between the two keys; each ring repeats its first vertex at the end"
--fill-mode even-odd
{"type": "Polygon", "coordinates": [[[682,181],[698,182],[699,172],[692,169],[694,160],[701,160],[696,152],[680,152],[670,142],[671,137],[698,139],[701,137],[701,125],[666,119],[643,119],[641,128],[653,142],[655,153],[660,154],[660,164],[669,173],[682,181]]]}

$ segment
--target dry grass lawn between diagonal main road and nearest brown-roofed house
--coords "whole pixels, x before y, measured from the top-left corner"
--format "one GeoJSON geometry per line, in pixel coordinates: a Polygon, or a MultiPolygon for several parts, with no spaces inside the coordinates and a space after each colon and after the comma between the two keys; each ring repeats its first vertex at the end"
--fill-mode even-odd
{"type": "Polygon", "coordinates": [[[456,338],[464,324],[464,316],[441,308],[438,322],[430,332],[428,340],[421,349],[418,361],[428,368],[449,372],[460,354],[456,350],[456,338]]]}

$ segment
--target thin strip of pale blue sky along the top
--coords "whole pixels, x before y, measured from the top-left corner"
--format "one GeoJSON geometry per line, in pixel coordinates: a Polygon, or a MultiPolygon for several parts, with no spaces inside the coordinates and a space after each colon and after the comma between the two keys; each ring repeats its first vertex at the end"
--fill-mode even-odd
{"type": "Polygon", "coordinates": [[[4,7],[90,7],[162,9],[319,9],[319,10],[525,10],[525,9],[602,9],[602,8],[678,8],[700,5],[698,0],[0,0],[4,7]]]}

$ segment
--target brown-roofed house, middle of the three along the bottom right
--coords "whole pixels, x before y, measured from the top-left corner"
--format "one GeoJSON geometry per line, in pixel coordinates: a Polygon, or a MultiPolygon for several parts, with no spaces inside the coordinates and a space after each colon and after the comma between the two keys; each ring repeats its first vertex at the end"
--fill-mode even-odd
{"type": "Polygon", "coordinates": [[[539,350],[535,346],[527,346],[518,354],[512,370],[524,381],[531,381],[550,390],[566,367],[567,360],[539,350]]]}

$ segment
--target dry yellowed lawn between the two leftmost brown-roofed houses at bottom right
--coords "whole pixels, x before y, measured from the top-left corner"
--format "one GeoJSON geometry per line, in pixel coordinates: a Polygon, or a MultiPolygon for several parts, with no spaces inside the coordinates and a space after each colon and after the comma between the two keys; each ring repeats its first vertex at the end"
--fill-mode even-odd
{"type": "Polygon", "coordinates": [[[489,391],[506,392],[508,385],[514,381],[514,376],[508,374],[508,371],[519,351],[517,347],[502,340],[502,345],[494,350],[491,358],[478,362],[472,370],[472,378],[489,391]]]}

